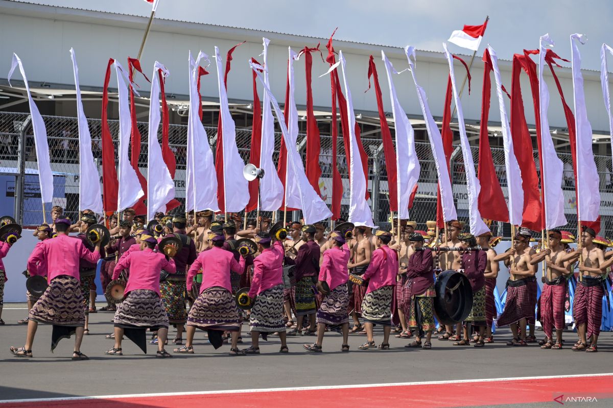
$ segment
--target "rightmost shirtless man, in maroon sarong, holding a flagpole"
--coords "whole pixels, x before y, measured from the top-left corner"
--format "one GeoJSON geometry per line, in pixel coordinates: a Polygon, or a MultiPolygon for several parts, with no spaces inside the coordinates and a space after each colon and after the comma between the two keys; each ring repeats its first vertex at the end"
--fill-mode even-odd
{"type": "Polygon", "coordinates": [[[603,275],[613,263],[613,258],[604,261],[604,248],[606,240],[596,237],[592,228],[583,228],[581,233],[582,250],[562,255],[562,261],[573,262],[583,258],[583,265],[579,266],[581,282],[575,291],[573,318],[579,333],[579,343],[573,346],[573,351],[597,352],[598,335],[603,317],[603,275]],[[587,346],[588,340],[592,341],[587,346]]]}

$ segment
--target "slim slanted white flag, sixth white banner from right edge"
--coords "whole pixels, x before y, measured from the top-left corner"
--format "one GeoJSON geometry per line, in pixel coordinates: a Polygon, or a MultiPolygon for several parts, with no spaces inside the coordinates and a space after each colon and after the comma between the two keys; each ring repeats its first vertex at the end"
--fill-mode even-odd
{"type": "Polygon", "coordinates": [[[443,221],[457,220],[457,213],[455,211],[454,195],[451,190],[451,180],[449,179],[449,171],[447,169],[447,159],[445,158],[445,151],[443,149],[443,138],[441,132],[438,130],[438,126],[430,113],[430,107],[428,106],[428,98],[425,95],[424,88],[417,84],[417,78],[415,76],[415,48],[413,46],[405,47],[406,58],[409,61],[409,67],[411,74],[413,75],[413,82],[415,83],[415,89],[417,89],[417,98],[419,99],[419,105],[424,115],[425,127],[428,133],[428,139],[430,140],[430,147],[432,148],[432,156],[434,157],[434,165],[436,167],[436,175],[438,176],[438,186],[441,190],[441,207],[443,207],[443,221]],[[412,58],[412,59],[411,59],[412,58]]]}

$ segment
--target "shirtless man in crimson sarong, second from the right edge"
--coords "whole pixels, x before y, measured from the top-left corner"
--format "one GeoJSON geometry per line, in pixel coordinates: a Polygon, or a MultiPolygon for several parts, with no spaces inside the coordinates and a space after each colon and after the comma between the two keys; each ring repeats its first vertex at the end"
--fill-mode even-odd
{"type": "Polygon", "coordinates": [[[549,231],[549,241],[546,250],[533,256],[530,264],[538,265],[545,261],[547,276],[543,278],[543,292],[541,292],[541,323],[545,340],[541,349],[562,349],[562,330],[565,327],[564,303],[566,301],[566,279],[569,271],[564,265],[562,255],[566,254],[564,245],[560,243],[562,232],[557,229],[549,231]],[[556,341],[552,326],[555,326],[556,341]]]}

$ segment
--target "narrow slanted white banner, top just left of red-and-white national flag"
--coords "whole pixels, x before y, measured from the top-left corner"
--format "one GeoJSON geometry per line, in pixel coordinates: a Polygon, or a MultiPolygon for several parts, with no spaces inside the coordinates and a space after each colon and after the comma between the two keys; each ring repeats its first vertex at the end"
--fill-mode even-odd
{"type": "Polygon", "coordinates": [[[466,190],[468,192],[468,220],[470,224],[470,232],[474,236],[480,236],[485,232],[490,231],[487,225],[481,218],[479,212],[479,192],[481,191],[481,184],[474,173],[474,161],[473,152],[470,150],[470,143],[468,143],[468,136],[466,136],[466,126],[464,124],[464,113],[462,112],[462,102],[458,96],[458,89],[455,85],[455,73],[454,73],[454,59],[447,51],[447,45],[443,43],[443,50],[447,57],[447,63],[449,64],[449,77],[451,78],[451,88],[454,91],[455,107],[458,113],[458,128],[460,130],[460,147],[462,147],[462,157],[464,159],[464,171],[466,173],[466,190]]]}

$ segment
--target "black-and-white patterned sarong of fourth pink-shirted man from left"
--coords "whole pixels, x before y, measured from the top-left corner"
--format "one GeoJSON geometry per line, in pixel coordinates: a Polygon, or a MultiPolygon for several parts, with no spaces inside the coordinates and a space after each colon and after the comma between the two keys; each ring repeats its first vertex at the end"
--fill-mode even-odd
{"type": "Polygon", "coordinates": [[[251,308],[249,325],[254,332],[275,333],[285,331],[283,321],[283,284],[266,289],[256,297],[251,308]]]}

